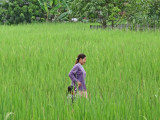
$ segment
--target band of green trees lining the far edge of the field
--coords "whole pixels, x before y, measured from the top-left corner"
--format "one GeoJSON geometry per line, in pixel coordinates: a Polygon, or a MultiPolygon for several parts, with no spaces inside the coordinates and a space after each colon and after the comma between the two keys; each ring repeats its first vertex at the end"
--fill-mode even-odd
{"type": "Polygon", "coordinates": [[[160,25],[160,0],[0,0],[0,24],[81,22],[160,25]]]}

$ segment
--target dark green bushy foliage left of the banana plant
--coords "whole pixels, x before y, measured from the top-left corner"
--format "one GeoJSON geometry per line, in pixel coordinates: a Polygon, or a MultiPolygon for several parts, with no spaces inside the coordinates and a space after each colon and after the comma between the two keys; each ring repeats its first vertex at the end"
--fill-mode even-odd
{"type": "Polygon", "coordinates": [[[37,0],[10,0],[9,2],[2,2],[1,4],[1,23],[18,24],[44,20],[45,13],[43,9],[40,9],[37,0]]]}

